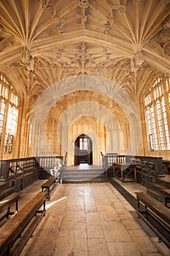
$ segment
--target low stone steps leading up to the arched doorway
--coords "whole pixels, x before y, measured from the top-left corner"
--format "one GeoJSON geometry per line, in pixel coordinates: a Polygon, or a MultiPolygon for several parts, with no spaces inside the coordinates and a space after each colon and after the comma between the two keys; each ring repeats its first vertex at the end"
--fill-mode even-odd
{"type": "Polygon", "coordinates": [[[104,169],[66,169],[63,171],[63,183],[107,182],[104,169]]]}

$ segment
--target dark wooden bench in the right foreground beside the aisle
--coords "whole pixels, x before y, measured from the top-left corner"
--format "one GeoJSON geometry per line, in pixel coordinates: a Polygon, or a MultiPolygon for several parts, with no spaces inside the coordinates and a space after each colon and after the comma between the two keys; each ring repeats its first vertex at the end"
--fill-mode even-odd
{"type": "Polygon", "coordinates": [[[137,214],[170,248],[170,209],[145,192],[136,192],[137,214]]]}

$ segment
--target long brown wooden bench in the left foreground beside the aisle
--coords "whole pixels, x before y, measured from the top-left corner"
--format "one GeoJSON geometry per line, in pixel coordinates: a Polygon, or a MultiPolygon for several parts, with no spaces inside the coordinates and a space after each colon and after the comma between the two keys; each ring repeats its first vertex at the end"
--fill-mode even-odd
{"type": "Polygon", "coordinates": [[[1,227],[0,254],[18,256],[45,216],[46,192],[39,192],[1,227]]]}

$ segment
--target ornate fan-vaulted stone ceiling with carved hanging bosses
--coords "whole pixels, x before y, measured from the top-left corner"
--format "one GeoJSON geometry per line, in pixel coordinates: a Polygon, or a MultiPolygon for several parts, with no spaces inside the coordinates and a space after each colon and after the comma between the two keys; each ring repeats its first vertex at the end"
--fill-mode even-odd
{"type": "Polygon", "coordinates": [[[139,95],[170,74],[170,1],[1,0],[0,59],[19,93],[97,75],[139,95]]]}

